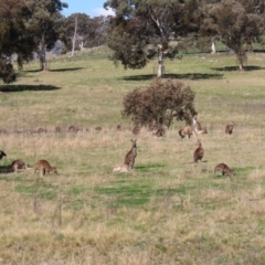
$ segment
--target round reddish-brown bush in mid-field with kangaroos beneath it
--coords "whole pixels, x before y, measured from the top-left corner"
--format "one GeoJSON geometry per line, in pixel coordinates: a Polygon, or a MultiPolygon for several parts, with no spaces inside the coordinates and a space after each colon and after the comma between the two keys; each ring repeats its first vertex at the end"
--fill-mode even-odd
{"type": "Polygon", "coordinates": [[[147,125],[156,120],[170,127],[173,119],[191,123],[195,93],[176,80],[155,80],[146,91],[138,88],[124,98],[123,117],[131,116],[135,125],[147,125]]]}

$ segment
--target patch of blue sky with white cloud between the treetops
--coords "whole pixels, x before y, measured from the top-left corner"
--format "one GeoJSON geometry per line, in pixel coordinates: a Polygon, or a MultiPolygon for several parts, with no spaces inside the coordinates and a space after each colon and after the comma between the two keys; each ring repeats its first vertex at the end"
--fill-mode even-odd
{"type": "Polygon", "coordinates": [[[110,10],[105,10],[103,4],[105,0],[62,0],[68,4],[67,9],[63,9],[62,14],[65,17],[72,13],[86,13],[91,18],[98,15],[113,14],[110,10]]]}

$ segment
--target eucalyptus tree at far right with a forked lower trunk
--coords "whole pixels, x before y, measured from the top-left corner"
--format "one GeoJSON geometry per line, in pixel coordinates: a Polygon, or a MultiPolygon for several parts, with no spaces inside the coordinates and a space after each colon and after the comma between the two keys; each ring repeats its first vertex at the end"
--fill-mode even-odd
{"type": "Polygon", "coordinates": [[[237,57],[239,70],[243,70],[246,60],[245,45],[251,41],[262,41],[264,18],[235,0],[222,0],[203,7],[204,19],[200,29],[202,35],[218,34],[221,41],[237,57]]]}

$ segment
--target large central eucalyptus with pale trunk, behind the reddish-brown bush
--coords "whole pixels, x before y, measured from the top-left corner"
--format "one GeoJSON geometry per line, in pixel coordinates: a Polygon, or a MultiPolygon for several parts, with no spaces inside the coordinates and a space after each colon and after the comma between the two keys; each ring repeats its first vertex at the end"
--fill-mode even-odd
{"type": "Polygon", "coordinates": [[[178,39],[198,30],[197,0],[108,0],[104,3],[115,17],[110,20],[108,46],[113,60],[129,68],[141,68],[159,55],[158,74],[163,57],[178,53],[178,39]]]}

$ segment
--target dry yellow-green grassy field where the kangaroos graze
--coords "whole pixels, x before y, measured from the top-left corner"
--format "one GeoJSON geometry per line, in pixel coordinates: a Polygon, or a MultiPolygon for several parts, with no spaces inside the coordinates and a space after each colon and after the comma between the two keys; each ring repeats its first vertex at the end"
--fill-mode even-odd
{"type": "Polygon", "coordinates": [[[114,173],[134,138],[123,97],[150,84],[157,62],[125,71],[107,53],[51,60],[47,73],[33,62],[0,86],[0,264],[265,264],[265,54],[250,54],[244,72],[231,55],[166,61],[165,77],[197,93],[203,162],[192,163],[195,138],[181,139],[176,121],[162,138],[142,129],[135,170],[114,173]],[[54,134],[71,125],[89,131],[54,134]],[[49,132],[31,132],[40,127],[49,132]],[[59,174],[6,173],[18,158],[46,159],[59,174]],[[213,174],[220,162],[234,181],[213,174]]]}

